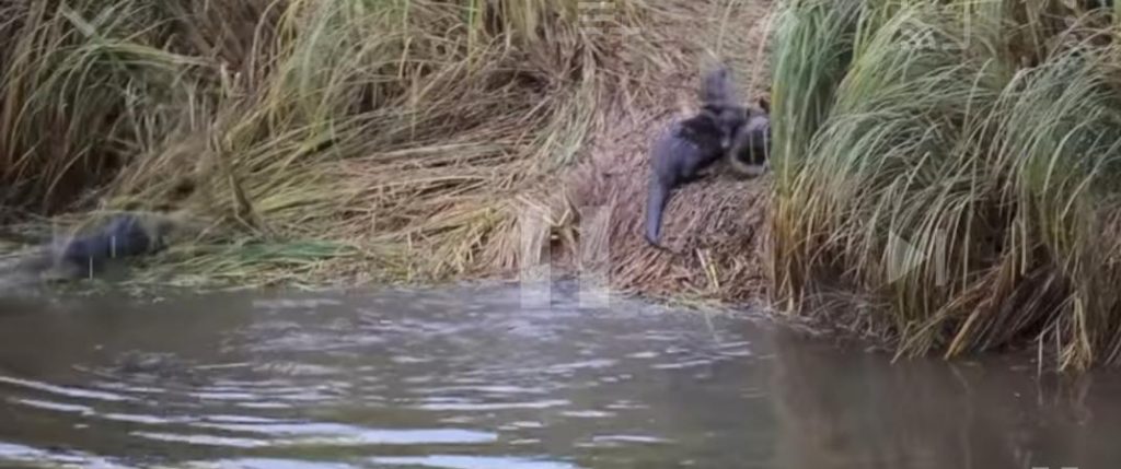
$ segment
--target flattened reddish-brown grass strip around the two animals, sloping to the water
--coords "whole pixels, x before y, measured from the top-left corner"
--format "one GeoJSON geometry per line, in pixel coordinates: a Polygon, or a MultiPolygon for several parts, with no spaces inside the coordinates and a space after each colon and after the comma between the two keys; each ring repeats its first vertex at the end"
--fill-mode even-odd
{"type": "Polygon", "coordinates": [[[758,250],[769,177],[736,179],[726,168],[713,168],[713,175],[677,190],[667,207],[668,252],[651,247],[641,233],[650,144],[674,119],[697,111],[703,71],[717,62],[730,66],[743,101],[767,94],[772,2],[659,2],[657,11],[647,30],[664,31],[671,41],[659,43],[657,55],[631,58],[630,67],[651,68],[641,86],[602,103],[605,124],[586,146],[586,158],[519,201],[526,225],[537,221],[550,232],[522,235],[521,245],[512,243],[517,236],[506,236],[510,244],[488,252],[508,268],[550,252],[559,268],[554,272],[578,270],[589,279],[600,275],[617,291],[676,303],[753,302],[766,287],[758,250]]]}

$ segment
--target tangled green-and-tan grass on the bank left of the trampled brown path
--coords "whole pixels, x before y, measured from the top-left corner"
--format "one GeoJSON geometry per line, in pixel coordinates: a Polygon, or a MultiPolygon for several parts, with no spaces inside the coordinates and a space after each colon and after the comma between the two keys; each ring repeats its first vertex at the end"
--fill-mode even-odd
{"type": "MultiPolygon", "coordinates": [[[[637,0],[615,3],[614,26],[643,21],[637,0]]],[[[633,83],[613,54],[656,47],[590,32],[577,6],[0,7],[0,196],[47,214],[200,219],[154,275],[460,274],[517,215],[506,200],[571,162],[601,102],[633,83]]]]}

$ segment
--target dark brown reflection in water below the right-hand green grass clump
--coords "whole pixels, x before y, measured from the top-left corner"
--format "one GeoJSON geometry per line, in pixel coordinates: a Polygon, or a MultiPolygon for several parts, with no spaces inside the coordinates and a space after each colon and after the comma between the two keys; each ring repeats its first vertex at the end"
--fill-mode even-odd
{"type": "Polygon", "coordinates": [[[1115,375],[1037,381],[1022,362],[1003,358],[887,366],[880,356],[786,337],[777,341],[772,379],[780,435],[775,467],[1096,468],[1121,461],[1111,443],[1121,434],[1115,375]]]}

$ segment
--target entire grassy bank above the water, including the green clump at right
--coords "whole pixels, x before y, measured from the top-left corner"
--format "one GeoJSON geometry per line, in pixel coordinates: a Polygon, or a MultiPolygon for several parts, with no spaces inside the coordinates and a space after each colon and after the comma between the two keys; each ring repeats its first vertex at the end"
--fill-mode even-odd
{"type": "Polygon", "coordinates": [[[92,54],[103,44],[66,15],[31,28],[6,12],[19,48],[0,53],[0,182],[13,212],[54,216],[29,225],[40,235],[103,212],[188,214],[197,226],[127,288],[548,266],[663,301],[763,300],[902,355],[1121,364],[1108,11],[621,0],[590,29],[575,1],[513,16],[117,1],[98,37],[119,55],[92,54]],[[649,143],[719,62],[743,102],[771,102],[771,171],[680,188],[663,225],[675,253],[651,248],[649,143]]]}

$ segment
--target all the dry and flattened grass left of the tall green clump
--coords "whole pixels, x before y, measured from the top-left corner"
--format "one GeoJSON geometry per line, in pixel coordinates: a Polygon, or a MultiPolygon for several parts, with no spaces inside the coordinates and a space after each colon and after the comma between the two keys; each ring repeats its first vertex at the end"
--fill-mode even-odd
{"type": "Polygon", "coordinates": [[[600,238],[617,287],[747,298],[758,213],[740,209],[759,205],[758,182],[683,190],[666,224],[682,256],[633,227],[646,144],[694,101],[705,49],[732,63],[745,94],[765,83],[770,2],[615,4],[614,24],[597,26],[639,35],[592,32],[575,1],[11,7],[0,12],[16,45],[0,53],[6,205],[56,224],[187,214],[201,233],[138,283],[506,275],[546,245],[564,259],[577,238],[600,238]],[[602,204],[612,224],[580,233],[572,207],[602,204]],[[527,207],[552,216],[531,254],[527,207]]]}

